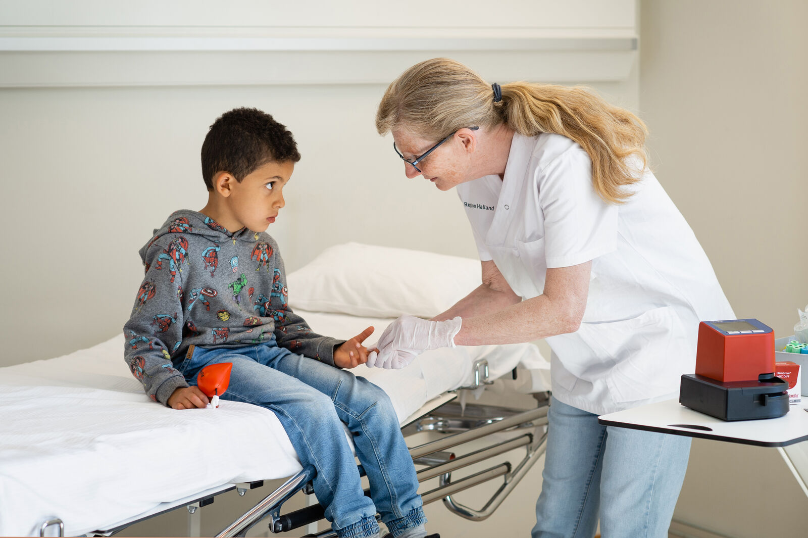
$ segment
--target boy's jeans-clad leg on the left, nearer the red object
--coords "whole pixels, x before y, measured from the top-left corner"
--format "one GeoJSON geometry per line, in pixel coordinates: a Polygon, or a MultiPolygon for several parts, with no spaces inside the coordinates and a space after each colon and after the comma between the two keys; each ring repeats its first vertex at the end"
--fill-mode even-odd
{"type": "Polygon", "coordinates": [[[379,532],[376,507],[362,493],[356,461],[332,402],[301,380],[265,365],[285,353],[288,351],[267,345],[196,348],[180,372],[196,383],[196,372],[207,364],[233,363],[229,387],[221,398],[275,413],[301,464],[317,469],[314,492],[338,536],[375,536],[379,532]]]}

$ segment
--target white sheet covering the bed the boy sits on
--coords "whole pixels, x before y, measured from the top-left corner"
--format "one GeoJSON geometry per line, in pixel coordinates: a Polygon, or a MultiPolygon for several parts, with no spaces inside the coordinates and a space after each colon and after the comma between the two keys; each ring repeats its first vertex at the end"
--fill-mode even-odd
{"type": "MultiPolygon", "coordinates": [[[[390,320],[298,311],[321,334],[350,338],[390,320]]],[[[371,337],[372,340],[374,337],[371,337]]],[[[52,517],[80,535],[161,502],[226,483],[288,477],[301,469],[283,427],[258,406],[167,409],[149,400],[122,358],[123,335],[56,359],[0,368],[0,536],[38,536],[52,517]]],[[[356,368],[389,393],[402,421],[433,397],[469,384],[470,365],[491,377],[549,364],[536,347],[429,351],[398,371],[356,368]]]]}

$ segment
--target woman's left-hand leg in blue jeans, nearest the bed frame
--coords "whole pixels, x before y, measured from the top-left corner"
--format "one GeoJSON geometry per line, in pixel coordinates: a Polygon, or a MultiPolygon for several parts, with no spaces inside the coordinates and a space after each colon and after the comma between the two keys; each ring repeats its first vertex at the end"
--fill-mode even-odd
{"type": "MultiPolygon", "coordinates": [[[[598,522],[606,427],[553,398],[533,538],[592,538],[598,522]]],[[[630,535],[626,535],[630,536],[630,535]]]]}

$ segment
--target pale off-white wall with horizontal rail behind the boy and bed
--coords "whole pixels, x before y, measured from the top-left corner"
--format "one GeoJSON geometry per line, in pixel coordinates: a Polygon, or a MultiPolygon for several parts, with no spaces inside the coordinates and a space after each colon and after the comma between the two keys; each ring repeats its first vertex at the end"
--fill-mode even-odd
{"type": "MultiPolygon", "coordinates": [[[[416,4],[410,8],[433,6],[416,4]]],[[[511,0],[532,15],[533,27],[501,11],[492,15],[483,4],[488,6],[472,2],[475,10],[460,18],[448,8],[431,10],[423,30],[431,34],[383,28],[379,32],[399,32],[402,40],[385,41],[368,27],[398,20],[401,13],[378,2],[351,2],[350,12],[343,4],[337,9],[332,2],[318,3],[330,19],[299,13],[296,19],[298,7],[276,16],[270,3],[251,0],[224,12],[209,1],[135,7],[83,0],[69,9],[42,0],[0,3],[0,162],[6,187],[0,203],[11,232],[0,267],[8,305],[0,313],[0,365],[65,354],[121,330],[142,277],[137,250],[170,212],[204,206],[200,145],[213,120],[233,107],[268,111],[297,138],[302,160],[284,190],[287,207],[269,230],[289,271],[326,246],[348,241],[474,257],[457,196],[406,179],[392,140],[373,128],[377,103],[395,74],[415,61],[451,54],[492,82],[553,74],[558,82],[593,82],[609,99],[633,108],[639,80],[635,51],[585,50],[587,39],[601,36],[592,28],[604,21],[612,26],[604,30],[607,41],[634,35],[631,0],[565,6],[511,0]],[[570,28],[575,13],[583,18],[575,23],[580,27],[570,28]],[[179,26],[183,21],[187,26],[179,26]],[[217,22],[226,28],[213,27],[217,22]],[[255,28],[240,29],[239,23],[255,28]],[[488,23],[491,36],[481,29],[488,23]],[[305,37],[339,36],[346,25],[371,37],[337,53],[305,37]],[[238,40],[244,32],[256,40],[238,40]],[[457,39],[440,41],[445,32],[457,39]],[[476,48],[507,49],[469,50],[469,38],[481,33],[488,40],[476,48]],[[292,36],[283,46],[314,50],[278,50],[281,45],[267,37],[276,34],[292,36]],[[512,41],[511,34],[524,39],[512,41]],[[184,40],[188,35],[201,36],[201,44],[184,40]],[[135,38],[121,44],[122,36],[135,38]],[[410,50],[424,40],[453,49],[410,50]],[[208,50],[229,46],[241,48],[208,50]],[[589,64],[580,63],[584,57],[589,64]],[[573,68],[602,68],[611,65],[609,58],[617,75],[595,70],[592,81],[570,81],[578,73],[573,68]],[[319,74],[330,73],[335,61],[347,73],[318,84],[319,74]],[[300,62],[325,71],[311,67],[305,83],[294,83],[288,73],[299,70],[300,62]],[[236,77],[234,66],[243,75],[236,77]]]]}

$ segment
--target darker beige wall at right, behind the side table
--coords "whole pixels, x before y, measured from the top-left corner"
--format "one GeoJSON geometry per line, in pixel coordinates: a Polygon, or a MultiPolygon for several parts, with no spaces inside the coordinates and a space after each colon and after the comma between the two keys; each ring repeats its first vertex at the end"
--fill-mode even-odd
{"type": "MultiPolygon", "coordinates": [[[[782,336],[808,302],[806,22],[802,0],[641,5],[658,177],[736,315],[782,336]]],[[[808,498],[775,449],[696,439],[674,519],[689,536],[806,536],[808,498]]]]}

